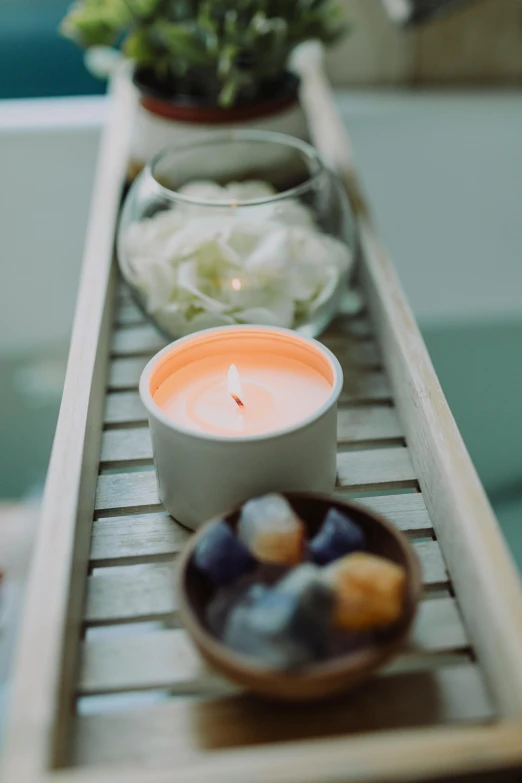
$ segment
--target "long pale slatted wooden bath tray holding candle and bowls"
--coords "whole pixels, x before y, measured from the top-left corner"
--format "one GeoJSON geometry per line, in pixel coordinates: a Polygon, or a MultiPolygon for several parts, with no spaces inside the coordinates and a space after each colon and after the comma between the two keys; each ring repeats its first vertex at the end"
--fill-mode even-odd
{"type": "Polygon", "coordinates": [[[358,200],[345,132],[318,69],[304,80],[303,100],[318,145],[355,197],[368,304],[324,336],[346,376],[338,491],[362,495],[413,539],[425,599],[403,655],[356,693],[309,708],[243,695],[202,664],[178,627],[171,577],[188,533],[159,503],[137,394],[163,340],[118,283],[112,257],[134,100],[128,79],[115,79],[3,780],[376,783],[513,774],[522,765],[518,577],[358,200]]]}

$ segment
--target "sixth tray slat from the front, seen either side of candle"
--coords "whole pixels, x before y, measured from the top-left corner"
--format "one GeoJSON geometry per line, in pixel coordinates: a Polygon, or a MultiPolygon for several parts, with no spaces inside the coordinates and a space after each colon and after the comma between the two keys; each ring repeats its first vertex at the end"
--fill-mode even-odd
{"type": "MultiPolygon", "coordinates": [[[[141,403],[140,403],[141,407],[141,403]]],[[[143,408],[142,408],[143,411],[143,408]]],[[[142,411],[136,411],[143,415],[142,411]]],[[[349,408],[339,410],[337,437],[340,443],[383,444],[401,439],[401,426],[393,408],[349,408]]],[[[104,433],[101,462],[152,461],[152,443],[148,426],[111,429],[104,433]]]]}

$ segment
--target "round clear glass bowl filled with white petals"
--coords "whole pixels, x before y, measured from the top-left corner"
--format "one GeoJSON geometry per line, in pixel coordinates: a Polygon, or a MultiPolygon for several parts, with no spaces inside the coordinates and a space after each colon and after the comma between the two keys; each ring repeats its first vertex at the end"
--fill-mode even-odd
{"type": "Polygon", "coordinates": [[[266,324],[314,337],[353,268],[354,221],[308,144],[260,131],[204,134],[157,155],[121,215],[118,259],[168,337],[266,324]]]}

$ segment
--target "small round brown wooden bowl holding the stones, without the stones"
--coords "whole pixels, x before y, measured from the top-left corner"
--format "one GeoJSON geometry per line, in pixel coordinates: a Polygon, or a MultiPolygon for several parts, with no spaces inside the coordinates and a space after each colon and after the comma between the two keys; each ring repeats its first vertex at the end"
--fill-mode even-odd
{"type": "MultiPolygon", "coordinates": [[[[181,621],[192,641],[211,666],[230,680],[265,696],[278,699],[317,699],[338,691],[346,691],[366,680],[374,671],[398,653],[410,631],[422,592],[420,565],[407,538],[379,514],[339,497],[283,493],[306,525],[307,538],[318,531],[329,508],[347,512],[364,530],[368,551],[398,563],[406,570],[406,590],[403,614],[394,625],[367,637],[362,645],[335,657],[310,664],[295,672],[277,671],[225,645],[208,628],[205,608],[216,589],[201,574],[193,562],[193,552],[205,535],[204,525],[190,539],[181,555],[177,581],[181,621]]],[[[224,519],[235,530],[240,509],[224,519]]]]}

